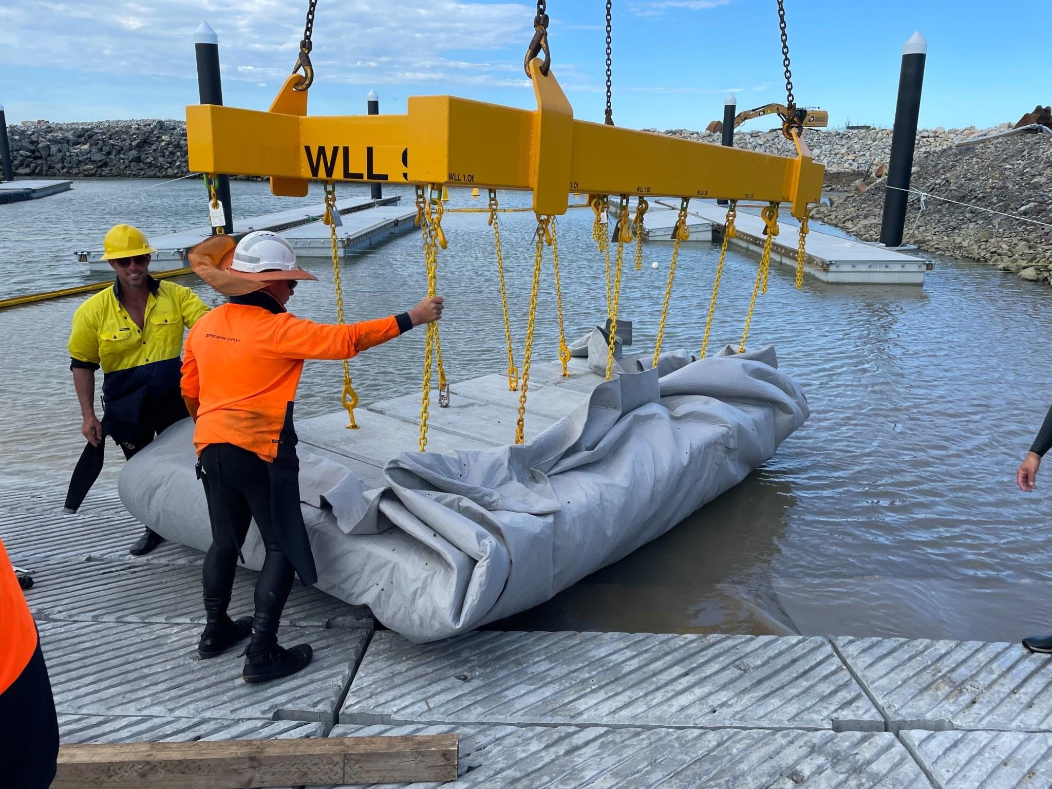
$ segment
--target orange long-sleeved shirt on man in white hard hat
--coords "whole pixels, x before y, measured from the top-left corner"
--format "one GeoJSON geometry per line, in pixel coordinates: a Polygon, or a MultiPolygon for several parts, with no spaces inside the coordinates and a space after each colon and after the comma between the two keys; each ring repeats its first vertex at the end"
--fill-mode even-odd
{"type": "Polygon", "coordinates": [[[269,304],[269,297],[242,299],[252,303],[217,307],[186,338],[182,393],[199,402],[198,453],[209,444],[234,444],[272,461],[303,360],[349,359],[411,325],[394,316],[348,325],[315,323],[269,304]]]}

